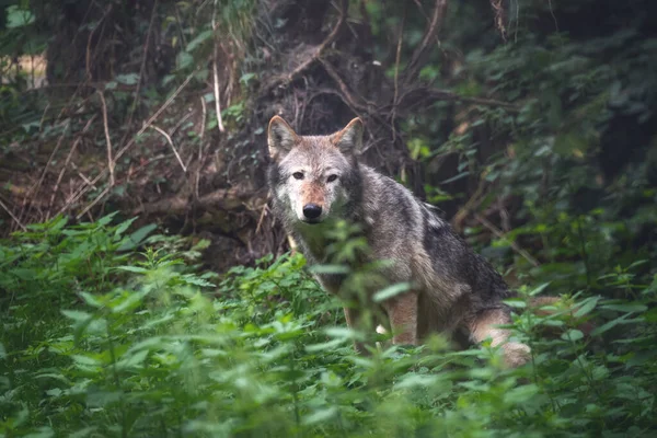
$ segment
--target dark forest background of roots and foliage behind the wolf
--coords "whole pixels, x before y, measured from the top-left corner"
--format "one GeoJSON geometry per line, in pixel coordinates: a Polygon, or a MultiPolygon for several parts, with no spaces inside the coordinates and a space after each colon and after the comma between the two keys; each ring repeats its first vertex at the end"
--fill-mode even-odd
{"type": "Polygon", "coordinates": [[[7,3],[5,232],[120,210],[210,238],[218,269],[253,264],[286,245],[268,119],[360,116],[366,162],[505,256],[654,255],[653,2],[7,3]],[[588,247],[541,231],[575,219],[588,247]]]}

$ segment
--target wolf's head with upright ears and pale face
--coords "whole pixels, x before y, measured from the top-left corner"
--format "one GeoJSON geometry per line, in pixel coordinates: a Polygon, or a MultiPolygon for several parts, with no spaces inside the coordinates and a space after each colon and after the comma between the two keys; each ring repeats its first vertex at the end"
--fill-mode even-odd
{"type": "Polygon", "coordinates": [[[362,122],[355,118],[330,136],[298,136],[274,116],[267,141],[269,185],[279,214],[292,223],[344,218],[360,185],[356,152],[362,145],[362,122]]]}

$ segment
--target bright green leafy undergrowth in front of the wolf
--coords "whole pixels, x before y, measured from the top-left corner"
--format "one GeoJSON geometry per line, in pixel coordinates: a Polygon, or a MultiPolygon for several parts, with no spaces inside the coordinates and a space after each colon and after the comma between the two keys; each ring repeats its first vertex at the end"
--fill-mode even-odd
{"type": "MultiPolygon", "coordinates": [[[[301,256],[199,274],[205,242],[56,219],[0,244],[0,436],[541,437],[655,429],[653,285],[522,312],[532,362],[439,337],[354,353],[301,256]],[[147,249],[147,250],[143,250],[147,249]],[[577,328],[596,320],[590,336],[577,328]],[[578,325],[579,324],[579,325],[578,325]],[[551,337],[538,333],[552,328],[551,337]]],[[[624,274],[619,274],[624,275],[624,274]]],[[[523,291],[539,292],[542,287],[523,291]]],[[[511,302],[522,307],[523,300],[511,302]]]]}

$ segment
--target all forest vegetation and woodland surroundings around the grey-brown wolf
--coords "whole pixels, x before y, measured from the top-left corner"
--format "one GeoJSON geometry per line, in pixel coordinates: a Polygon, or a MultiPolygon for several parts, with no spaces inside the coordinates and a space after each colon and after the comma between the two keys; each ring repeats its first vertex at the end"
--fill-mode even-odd
{"type": "Polygon", "coordinates": [[[5,1],[0,67],[0,436],[655,435],[657,2],[5,1]],[[360,116],[365,161],[564,296],[510,302],[531,364],[357,356],[280,256],[274,114],[360,116]]]}

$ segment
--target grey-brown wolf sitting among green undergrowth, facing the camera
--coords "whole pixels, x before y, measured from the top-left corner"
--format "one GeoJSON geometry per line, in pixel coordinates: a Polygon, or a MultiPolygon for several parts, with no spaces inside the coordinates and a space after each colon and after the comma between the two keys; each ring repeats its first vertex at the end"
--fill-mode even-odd
{"type": "MultiPolygon", "coordinates": [[[[332,135],[299,136],[274,116],[267,131],[274,216],[311,265],[330,262],[327,234],[338,220],[358,226],[369,246],[364,262],[389,261],[378,273],[385,283],[411,285],[381,303],[371,300],[376,288],[367,292],[367,306],[380,306],[393,344],[418,345],[433,333],[465,334],[474,343],[491,338],[507,366],[523,365],[529,347],[509,342],[509,331],[499,327],[511,322],[502,276],[434,206],[359,162],[362,134],[362,122],[355,118],[332,135]]],[[[341,296],[344,276],[315,277],[341,296]]],[[[361,326],[361,313],[345,307],[347,324],[361,326]]]]}

